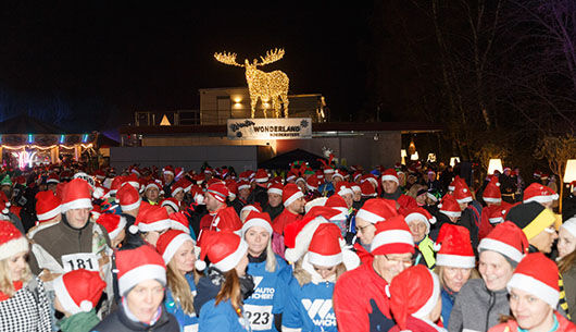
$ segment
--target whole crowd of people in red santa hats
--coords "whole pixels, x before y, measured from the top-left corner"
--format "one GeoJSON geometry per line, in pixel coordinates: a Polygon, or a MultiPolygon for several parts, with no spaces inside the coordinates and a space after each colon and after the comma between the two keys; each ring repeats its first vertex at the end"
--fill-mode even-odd
{"type": "Polygon", "coordinates": [[[0,331],[576,331],[576,184],[465,179],[4,170],[0,331]]]}

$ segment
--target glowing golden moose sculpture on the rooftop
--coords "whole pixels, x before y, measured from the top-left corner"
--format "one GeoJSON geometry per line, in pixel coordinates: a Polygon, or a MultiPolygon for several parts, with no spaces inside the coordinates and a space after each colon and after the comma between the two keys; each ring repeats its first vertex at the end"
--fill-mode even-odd
{"type": "MultiPolygon", "coordinates": [[[[262,60],[258,62],[256,59],[252,63],[245,60],[241,65],[236,62],[236,53],[214,53],[217,61],[236,66],[246,67],[246,81],[248,82],[248,90],[250,91],[250,106],[252,108],[252,118],[256,111],[258,99],[262,102],[272,100],[274,114],[280,118],[280,102],[284,104],[284,116],[288,118],[288,84],[290,81],[288,76],[280,71],[266,73],[256,69],[259,65],[265,65],[280,60],[284,57],[284,49],[275,49],[267,51],[266,57],[260,57],[262,60]]],[[[264,108],[264,118],[267,118],[266,108],[264,108]]]]}

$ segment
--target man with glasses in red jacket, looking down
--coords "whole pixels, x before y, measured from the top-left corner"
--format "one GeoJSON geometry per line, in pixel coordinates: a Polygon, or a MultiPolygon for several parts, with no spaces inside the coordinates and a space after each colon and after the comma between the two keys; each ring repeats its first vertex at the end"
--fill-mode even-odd
{"type": "Polygon", "coordinates": [[[414,241],[402,216],[371,228],[375,229],[371,244],[374,259],[342,274],[334,290],[334,311],[341,332],[391,329],[395,321],[386,286],[413,265],[414,241]]]}

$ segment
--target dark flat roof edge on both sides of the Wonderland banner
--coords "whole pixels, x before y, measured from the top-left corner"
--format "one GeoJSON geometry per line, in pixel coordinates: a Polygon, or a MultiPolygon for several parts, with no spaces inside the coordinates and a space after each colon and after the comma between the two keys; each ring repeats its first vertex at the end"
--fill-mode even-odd
{"type": "MultiPolygon", "coordinates": [[[[401,132],[410,133],[435,133],[441,132],[440,124],[425,122],[325,122],[312,123],[313,133],[325,133],[327,135],[338,133],[365,133],[365,132],[401,132]]],[[[221,134],[226,136],[226,125],[141,125],[121,126],[120,133],[125,135],[181,135],[181,134],[221,134]]]]}

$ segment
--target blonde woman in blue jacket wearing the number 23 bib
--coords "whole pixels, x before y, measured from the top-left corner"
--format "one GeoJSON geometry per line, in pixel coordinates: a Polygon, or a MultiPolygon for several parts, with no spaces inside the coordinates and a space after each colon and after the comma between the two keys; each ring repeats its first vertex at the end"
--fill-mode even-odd
{"type": "Polygon", "coordinates": [[[272,250],[272,222],[268,213],[250,211],[241,235],[248,243],[248,273],[258,280],[254,293],[245,300],[245,311],[255,331],[280,331],[286,285],[291,269],[272,250]]]}

